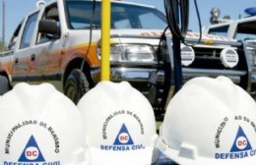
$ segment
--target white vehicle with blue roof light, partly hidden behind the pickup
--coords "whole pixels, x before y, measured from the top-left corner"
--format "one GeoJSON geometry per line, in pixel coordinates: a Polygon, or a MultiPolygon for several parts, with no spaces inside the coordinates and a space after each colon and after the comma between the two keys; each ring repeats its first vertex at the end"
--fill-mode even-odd
{"type": "MultiPolygon", "coordinates": [[[[217,34],[243,41],[251,63],[251,94],[256,94],[256,8],[245,10],[250,16],[237,20],[222,20],[203,28],[205,34],[217,34]]],[[[216,19],[217,20],[217,19],[216,19]]],[[[217,20],[218,21],[218,20],[217,20]]]]}

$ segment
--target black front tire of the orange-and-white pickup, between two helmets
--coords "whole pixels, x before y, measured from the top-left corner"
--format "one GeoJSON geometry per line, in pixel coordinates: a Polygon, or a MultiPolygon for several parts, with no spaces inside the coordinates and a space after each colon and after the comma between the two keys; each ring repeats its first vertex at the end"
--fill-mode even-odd
{"type": "Polygon", "coordinates": [[[90,83],[87,77],[81,70],[74,69],[64,86],[64,93],[68,96],[75,104],[78,103],[80,98],[90,90],[90,83]]]}

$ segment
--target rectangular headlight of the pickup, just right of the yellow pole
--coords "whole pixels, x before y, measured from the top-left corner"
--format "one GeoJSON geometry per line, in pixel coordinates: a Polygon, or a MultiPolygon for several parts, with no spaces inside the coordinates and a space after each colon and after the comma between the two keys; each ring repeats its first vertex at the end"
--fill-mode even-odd
{"type": "Polygon", "coordinates": [[[111,44],[110,61],[152,63],[156,62],[156,52],[147,44],[111,44]]]}

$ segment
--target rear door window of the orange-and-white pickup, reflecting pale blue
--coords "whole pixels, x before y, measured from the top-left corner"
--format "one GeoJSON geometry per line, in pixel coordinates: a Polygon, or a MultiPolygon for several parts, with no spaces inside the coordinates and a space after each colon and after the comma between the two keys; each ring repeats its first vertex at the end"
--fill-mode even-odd
{"type": "Polygon", "coordinates": [[[30,46],[31,41],[32,41],[32,33],[33,33],[33,29],[35,27],[37,17],[38,17],[38,12],[32,14],[32,16],[30,16],[28,18],[27,24],[24,28],[22,40],[21,40],[21,45],[20,45],[21,49],[30,46]]]}

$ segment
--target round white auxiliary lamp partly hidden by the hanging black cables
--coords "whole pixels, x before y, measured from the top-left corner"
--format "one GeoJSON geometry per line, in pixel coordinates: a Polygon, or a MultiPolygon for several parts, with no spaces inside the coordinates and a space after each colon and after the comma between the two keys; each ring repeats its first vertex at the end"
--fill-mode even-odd
{"type": "Polygon", "coordinates": [[[195,51],[191,46],[181,45],[181,64],[183,66],[189,66],[195,60],[195,51]]]}

